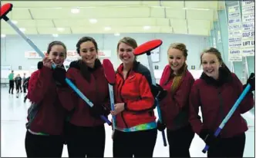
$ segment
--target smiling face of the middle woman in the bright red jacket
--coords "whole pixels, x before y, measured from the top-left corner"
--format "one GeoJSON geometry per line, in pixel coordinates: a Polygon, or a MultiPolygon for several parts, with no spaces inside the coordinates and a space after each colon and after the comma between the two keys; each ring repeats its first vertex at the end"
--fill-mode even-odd
{"type": "Polygon", "coordinates": [[[118,47],[118,56],[123,64],[130,64],[134,61],[133,47],[121,42],[118,47]]]}

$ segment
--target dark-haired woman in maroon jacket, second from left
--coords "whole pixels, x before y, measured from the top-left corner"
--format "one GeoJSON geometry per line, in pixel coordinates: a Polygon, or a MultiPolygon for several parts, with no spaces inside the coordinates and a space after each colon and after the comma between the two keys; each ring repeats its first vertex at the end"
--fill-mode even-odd
{"type": "Polygon", "coordinates": [[[66,143],[69,157],[103,157],[105,127],[100,115],[107,116],[109,107],[108,82],[97,58],[98,45],[93,38],[80,38],[76,51],[82,58],[72,61],[66,76],[76,84],[94,106],[89,107],[78,95],[75,108],[66,123],[66,143]]]}

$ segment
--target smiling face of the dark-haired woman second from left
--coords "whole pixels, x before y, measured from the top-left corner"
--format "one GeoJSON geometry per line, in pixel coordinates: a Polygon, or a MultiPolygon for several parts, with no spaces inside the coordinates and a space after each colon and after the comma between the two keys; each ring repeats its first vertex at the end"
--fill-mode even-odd
{"type": "Polygon", "coordinates": [[[85,41],[80,44],[79,55],[82,57],[82,60],[89,67],[94,67],[95,60],[97,58],[97,50],[92,41],[85,41]]]}

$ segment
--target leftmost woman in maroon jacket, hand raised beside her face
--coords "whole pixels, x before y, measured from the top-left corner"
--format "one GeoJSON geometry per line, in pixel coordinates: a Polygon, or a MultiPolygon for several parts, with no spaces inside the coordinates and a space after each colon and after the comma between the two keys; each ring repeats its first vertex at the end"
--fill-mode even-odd
{"type": "Polygon", "coordinates": [[[63,123],[66,112],[72,110],[72,92],[65,83],[66,46],[52,41],[38,71],[31,74],[27,97],[29,122],[26,123],[25,150],[28,157],[61,157],[63,123]],[[56,69],[52,70],[52,63],[56,69]]]}

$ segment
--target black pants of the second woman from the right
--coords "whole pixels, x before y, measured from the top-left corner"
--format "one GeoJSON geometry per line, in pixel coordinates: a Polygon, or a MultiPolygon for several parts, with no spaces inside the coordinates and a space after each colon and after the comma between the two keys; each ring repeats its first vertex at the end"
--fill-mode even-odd
{"type": "Polygon", "coordinates": [[[191,126],[167,130],[170,157],[190,157],[190,144],[194,138],[191,126]]]}

